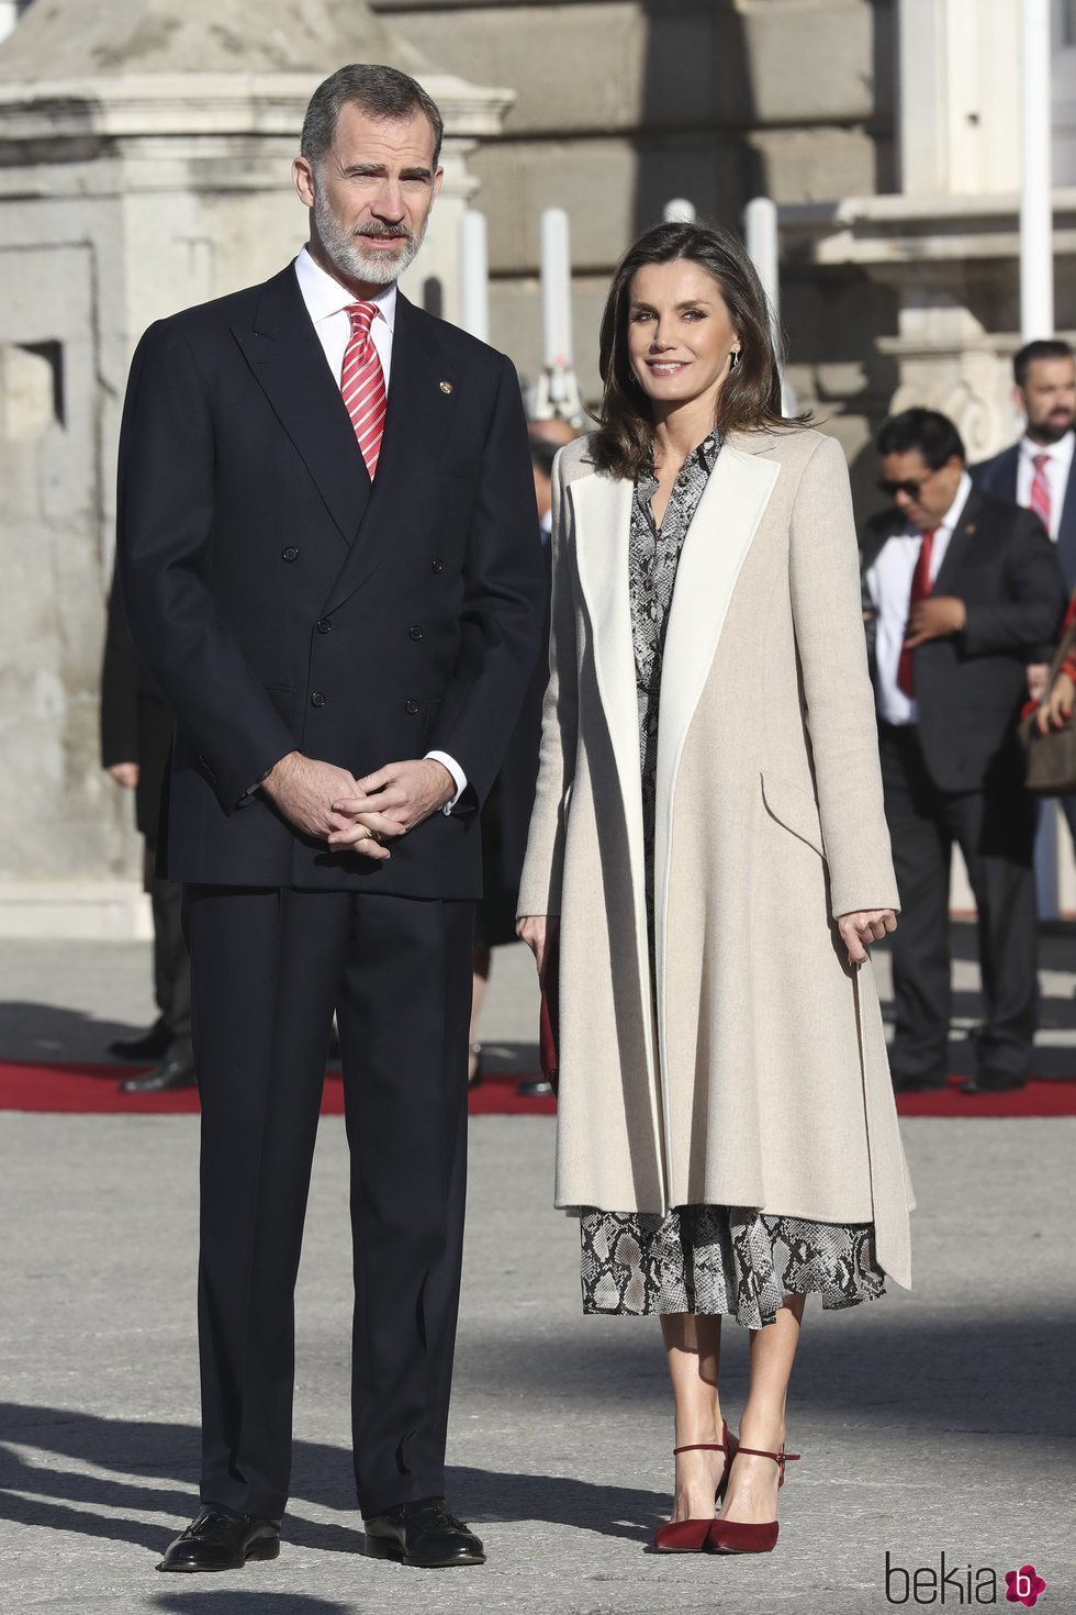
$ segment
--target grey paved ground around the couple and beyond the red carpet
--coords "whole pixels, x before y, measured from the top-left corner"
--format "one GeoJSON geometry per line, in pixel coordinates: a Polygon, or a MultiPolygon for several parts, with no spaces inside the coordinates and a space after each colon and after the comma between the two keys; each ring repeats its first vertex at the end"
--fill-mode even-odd
{"type": "MultiPolygon", "coordinates": [[[[1044,1058],[1060,1074],[1076,1064],[1076,950],[1061,935],[1047,951],[1057,1024],[1044,1058]]],[[[526,1066],[526,961],[498,963],[486,1038],[526,1066]]],[[[0,1058],[100,1058],[118,1027],[148,1019],[140,946],[5,943],[0,971],[0,1058]]],[[[968,963],[958,988],[971,1024],[968,963]]],[[[994,1602],[991,1573],[997,1604],[1013,1607],[1002,1576],[1031,1562],[1044,1612],[1068,1612],[1074,1137],[1076,1121],[905,1122],[915,1294],[811,1311],[790,1408],[805,1458],[782,1492],[779,1547],[753,1562],[647,1552],[671,1479],[657,1331],[579,1316],[574,1229],[548,1206],[553,1124],[476,1119],[450,1462],[453,1505],[490,1562],[421,1575],[363,1558],[348,1502],[345,1147],[327,1119],[300,1277],[284,1550],[186,1581],[153,1565],[195,1497],[197,1122],[5,1114],[0,1612],[871,1615],[916,1602],[903,1579],[916,1568],[918,1604],[940,1607],[942,1554],[949,1609],[976,1592],[994,1602]]],[[[744,1366],[731,1326],[732,1420],[744,1366]]]]}

